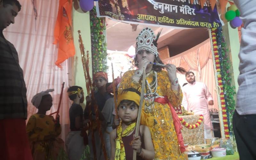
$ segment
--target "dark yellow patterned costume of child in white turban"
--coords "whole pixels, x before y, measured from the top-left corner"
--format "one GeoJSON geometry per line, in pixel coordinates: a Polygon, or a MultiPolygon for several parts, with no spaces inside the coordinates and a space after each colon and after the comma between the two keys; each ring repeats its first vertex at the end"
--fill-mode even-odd
{"type": "Polygon", "coordinates": [[[52,116],[34,114],[26,127],[34,160],[66,159],[64,141],[57,138],[61,133],[60,124],[52,116]],[[62,157],[61,157],[62,156],[62,157]]]}

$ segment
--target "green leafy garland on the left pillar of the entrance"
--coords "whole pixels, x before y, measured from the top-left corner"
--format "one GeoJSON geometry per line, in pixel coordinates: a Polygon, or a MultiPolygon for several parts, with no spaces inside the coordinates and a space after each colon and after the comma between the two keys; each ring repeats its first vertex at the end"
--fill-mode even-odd
{"type": "Polygon", "coordinates": [[[104,18],[98,18],[96,7],[90,11],[91,46],[92,46],[92,72],[107,72],[107,43],[104,31],[106,30],[104,18]]]}

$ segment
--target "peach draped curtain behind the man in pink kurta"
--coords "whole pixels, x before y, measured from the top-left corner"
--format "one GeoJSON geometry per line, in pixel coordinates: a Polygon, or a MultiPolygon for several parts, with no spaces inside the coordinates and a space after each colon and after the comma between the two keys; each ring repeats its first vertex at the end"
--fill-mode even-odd
{"type": "MultiPolygon", "coordinates": [[[[163,62],[171,63],[176,67],[183,67],[187,71],[194,72],[196,81],[205,83],[212,94],[214,105],[209,106],[209,108],[216,108],[219,110],[210,39],[205,40],[203,43],[198,44],[188,51],[165,59],[163,62]]],[[[181,86],[184,83],[188,83],[185,75],[178,73],[177,77],[181,86]]]]}

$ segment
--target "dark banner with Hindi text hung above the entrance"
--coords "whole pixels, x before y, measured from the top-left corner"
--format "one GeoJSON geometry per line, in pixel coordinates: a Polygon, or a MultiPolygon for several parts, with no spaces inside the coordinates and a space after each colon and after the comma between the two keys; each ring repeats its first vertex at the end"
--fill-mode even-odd
{"type": "Polygon", "coordinates": [[[206,0],[99,0],[96,2],[98,17],[108,17],[128,23],[182,28],[213,28],[221,26],[215,5],[206,0]]]}

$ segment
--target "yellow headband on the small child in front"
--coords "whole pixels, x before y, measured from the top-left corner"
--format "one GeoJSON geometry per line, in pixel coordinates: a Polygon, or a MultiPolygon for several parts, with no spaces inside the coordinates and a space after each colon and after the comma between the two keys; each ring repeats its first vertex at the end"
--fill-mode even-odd
{"type": "Polygon", "coordinates": [[[120,102],[122,100],[132,100],[134,101],[138,106],[140,106],[140,95],[136,92],[131,91],[124,91],[117,95],[117,106],[120,105],[120,102]]]}

